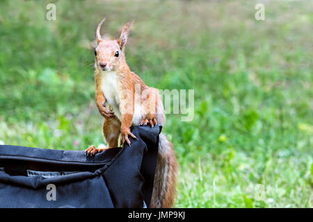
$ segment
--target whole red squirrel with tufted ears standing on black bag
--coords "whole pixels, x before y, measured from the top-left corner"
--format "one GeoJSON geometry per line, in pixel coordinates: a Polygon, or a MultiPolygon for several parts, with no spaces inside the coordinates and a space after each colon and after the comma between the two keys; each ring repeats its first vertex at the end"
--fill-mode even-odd
{"type": "MultiPolygon", "coordinates": [[[[125,44],[131,26],[128,22],[122,28],[117,40],[104,40],[100,28],[106,18],[98,24],[95,48],[95,99],[100,114],[104,117],[102,132],[108,146],[86,149],[86,155],[95,155],[106,149],[117,147],[124,142],[131,145],[129,137],[136,139],[129,128],[157,123],[164,126],[166,117],[158,89],[148,87],[143,80],[132,72],[125,60],[125,44]],[[136,102],[136,89],[140,92],[136,102]],[[107,103],[108,105],[106,106],[107,103]]],[[[159,153],[154,177],[154,189],[150,207],[172,207],[176,194],[177,160],[172,144],[162,133],[159,135],[159,153]]]]}

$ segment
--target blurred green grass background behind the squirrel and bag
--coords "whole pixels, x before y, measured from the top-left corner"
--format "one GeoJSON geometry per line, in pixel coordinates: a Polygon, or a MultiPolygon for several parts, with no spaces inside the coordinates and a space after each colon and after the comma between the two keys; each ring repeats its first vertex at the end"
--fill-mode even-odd
{"type": "Polygon", "coordinates": [[[175,207],[312,207],[313,1],[0,1],[0,140],[103,143],[90,42],[131,19],[127,62],[147,85],[195,89],[163,130],[175,207]],[[47,21],[47,3],[56,21],[47,21]],[[264,3],[265,21],[255,20],[264,3]]]}

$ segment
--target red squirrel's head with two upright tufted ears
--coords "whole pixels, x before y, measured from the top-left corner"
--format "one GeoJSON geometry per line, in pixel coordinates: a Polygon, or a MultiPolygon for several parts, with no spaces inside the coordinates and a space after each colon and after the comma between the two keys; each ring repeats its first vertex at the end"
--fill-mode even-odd
{"type": "Polygon", "coordinates": [[[102,71],[115,71],[122,68],[125,62],[124,48],[127,42],[131,25],[134,22],[128,22],[122,28],[122,33],[117,40],[103,40],[100,35],[100,28],[106,18],[97,26],[96,38],[97,47],[95,48],[95,66],[102,71]]]}

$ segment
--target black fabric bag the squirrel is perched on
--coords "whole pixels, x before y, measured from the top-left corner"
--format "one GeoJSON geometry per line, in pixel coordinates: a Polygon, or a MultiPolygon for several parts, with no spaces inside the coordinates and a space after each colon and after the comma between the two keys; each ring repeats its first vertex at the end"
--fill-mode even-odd
{"type": "Polygon", "coordinates": [[[84,151],[0,146],[0,207],[149,207],[161,126],[134,126],[131,146],[84,151]],[[48,200],[49,184],[56,200],[48,200]],[[48,186],[48,188],[47,188],[48,186]]]}

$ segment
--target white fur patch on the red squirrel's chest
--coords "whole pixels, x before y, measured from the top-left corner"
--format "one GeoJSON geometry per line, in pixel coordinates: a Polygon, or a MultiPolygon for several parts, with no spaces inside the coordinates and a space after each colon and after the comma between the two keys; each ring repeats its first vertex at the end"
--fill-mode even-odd
{"type": "Polygon", "coordinates": [[[101,89],[106,97],[106,103],[111,105],[113,112],[118,119],[121,119],[118,98],[118,74],[115,71],[103,71],[101,89]]]}

